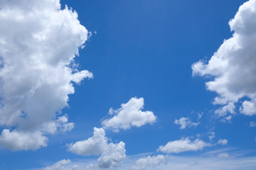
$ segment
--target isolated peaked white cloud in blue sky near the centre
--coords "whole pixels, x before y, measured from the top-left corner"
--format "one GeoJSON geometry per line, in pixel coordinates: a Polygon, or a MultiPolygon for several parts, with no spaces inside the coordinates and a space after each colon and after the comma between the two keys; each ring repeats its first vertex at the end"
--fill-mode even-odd
{"type": "Polygon", "coordinates": [[[142,111],[144,98],[131,98],[127,103],[122,103],[117,110],[110,109],[110,119],[102,121],[103,128],[119,132],[119,129],[127,130],[131,126],[141,127],[146,123],[155,123],[156,116],[151,111],[142,111]]]}

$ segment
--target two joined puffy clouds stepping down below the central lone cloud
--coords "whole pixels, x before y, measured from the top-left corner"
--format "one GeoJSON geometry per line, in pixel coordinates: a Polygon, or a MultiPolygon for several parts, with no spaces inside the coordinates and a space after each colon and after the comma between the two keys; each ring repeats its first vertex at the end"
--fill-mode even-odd
{"type": "MultiPolygon", "coordinates": [[[[87,140],[68,145],[68,151],[84,156],[101,154],[100,158],[97,159],[97,166],[100,168],[119,166],[126,157],[124,142],[108,143],[108,138],[105,137],[105,130],[102,128],[94,128],[93,136],[87,140]]],[[[89,168],[95,169],[97,166],[92,165],[89,168]]]]}

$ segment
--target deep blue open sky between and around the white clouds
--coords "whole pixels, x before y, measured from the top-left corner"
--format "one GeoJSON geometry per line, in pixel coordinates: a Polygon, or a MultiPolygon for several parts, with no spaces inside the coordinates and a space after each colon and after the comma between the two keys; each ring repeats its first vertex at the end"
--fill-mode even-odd
{"type": "Polygon", "coordinates": [[[77,11],[80,23],[92,32],[76,61],[94,78],[75,85],[69,107],[62,111],[75,123],[71,132],[49,135],[48,147],[36,151],[1,149],[0,169],[28,169],[60,159],[80,159],[67,152],[65,145],[90,137],[93,127],[101,127],[100,120],[111,107],[117,109],[134,96],[144,98],[144,111],[153,111],[157,122],[119,133],[106,130],[113,142],[125,142],[129,156],[155,152],[159,145],[181,137],[201,134],[201,139],[209,141],[211,129],[215,140],[228,140],[225,147],[256,149],[255,129],[248,125],[255,117],[238,114],[232,123],[213,120],[216,106],[211,102],[216,94],[206,90],[206,79],[192,77],[191,69],[194,62],[209,59],[223,40],[232,36],[228,22],[244,2],[60,1],[77,11]],[[198,113],[203,113],[203,118],[197,128],[180,130],[174,124],[181,117],[196,120],[198,113]]]}

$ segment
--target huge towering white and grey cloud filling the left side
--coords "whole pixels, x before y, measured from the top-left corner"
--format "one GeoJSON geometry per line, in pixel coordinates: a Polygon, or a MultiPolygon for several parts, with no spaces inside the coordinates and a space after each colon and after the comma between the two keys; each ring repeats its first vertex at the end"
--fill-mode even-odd
{"type": "Polygon", "coordinates": [[[75,67],[87,40],[78,14],[60,9],[59,0],[1,0],[0,23],[0,126],[16,127],[16,135],[72,129],[67,116],[57,119],[55,113],[68,106],[73,82],[92,77],[75,67]]]}

